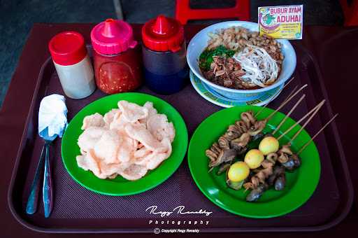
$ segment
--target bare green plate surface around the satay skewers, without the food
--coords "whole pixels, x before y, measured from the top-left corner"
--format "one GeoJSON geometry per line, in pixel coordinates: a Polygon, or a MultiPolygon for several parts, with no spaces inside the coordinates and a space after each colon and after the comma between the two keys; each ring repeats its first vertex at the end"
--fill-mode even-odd
{"type": "MultiPolygon", "coordinates": [[[[206,149],[222,135],[227,127],[240,118],[243,111],[258,111],[259,106],[236,106],[223,109],[206,118],[194,132],[189,144],[188,163],[192,177],[201,192],[208,199],[233,214],[250,218],[272,218],[288,214],[307,202],[313,195],[320,180],[320,155],[314,143],[311,143],[301,154],[302,165],[294,172],[286,173],[286,187],[282,191],[273,188],[267,190],[257,202],[246,202],[245,197],[249,191],[233,190],[225,183],[225,174],[217,176],[217,168],[208,173],[208,158],[206,149]]],[[[273,110],[264,109],[259,114],[259,120],[266,118],[273,110]]],[[[268,122],[264,132],[272,132],[275,125],[285,117],[282,113],[276,113],[268,122]]],[[[278,137],[281,132],[287,130],[295,123],[291,118],[275,134],[278,137]]],[[[280,145],[286,144],[289,137],[301,128],[299,125],[280,139],[280,145]]],[[[303,130],[292,144],[292,150],[298,151],[303,144],[310,139],[310,135],[303,130]]]]}

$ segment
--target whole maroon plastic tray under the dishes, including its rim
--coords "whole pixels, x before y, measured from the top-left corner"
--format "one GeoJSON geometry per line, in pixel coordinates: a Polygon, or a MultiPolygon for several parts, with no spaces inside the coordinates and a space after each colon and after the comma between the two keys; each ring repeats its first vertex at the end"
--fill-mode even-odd
{"type": "MultiPolygon", "coordinates": [[[[293,113],[292,118],[300,118],[317,102],[326,99],[327,103],[308,126],[308,132],[313,134],[322,126],[322,123],[331,118],[332,111],[315,60],[299,43],[294,43],[294,48],[297,55],[295,80],[270,104],[270,107],[276,108],[295,85],[307,83],[306,99],[293,113]]],[[[169,96],[155,94],[145,86],[138,91],[153,94],[176,107],[187,124],[189,135],[206,117],[221,109],[203,99],[189,84],[184,90],[169,96]]],[[[51,59],[48,59],[38,76],[8,191],[8,204],[13,216],[31,230],[38,232],[152,232],[154,228],[196,228],[201,232],[317,231],[340,223],[352,206],[352,183],[336,125],[332,123],[315,139],[322,165],[317,190],[306,204],[285,216],[268,219],[244,218],[216,207],[194,184],[186,158],[171,178],[145,193],[127,197],[93,193],[73,181],[64,169],[59,152],[61,139],[55,141],[51,150],[55,195],[52,214],[50,218],[44,218],[43,207],[40,204],[38,212],[29,216],[25,213],[25,205],[43,146],[43,141],[37,134],[38,107],[41,99],[52,93],[64,94],[55,67],[51,59]],[[173,213],[171,216],[162,218],[146,211],[153,205],[157,205],[160,211],[172,211],[175,207],[185,206],[185,211],[203,209],[213,213],[210,216],[173,213]],[[156,221],[159,224],[155,224],[156,221]],[[194,224],[195,221],[197,224],[194,224]],[[206,225],[207,221],[208,225],[206,225]]],[[[96,90],[85,99],[66,98],[69,120],[83,106],[103,96],[105,94],[96,90]]],[[[294,102],[285,106],[282,112],[286,113],[292,104],[294,102]]]]}

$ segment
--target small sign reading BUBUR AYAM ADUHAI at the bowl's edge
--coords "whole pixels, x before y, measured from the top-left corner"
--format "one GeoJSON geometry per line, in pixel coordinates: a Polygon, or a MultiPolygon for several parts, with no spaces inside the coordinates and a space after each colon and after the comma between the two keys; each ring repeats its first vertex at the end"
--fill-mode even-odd
{"type": "Polygon", "coordinates": [[[264,6],[258,9],[259,34],[273,38],[302,38],[303,5],[264,6]]]}

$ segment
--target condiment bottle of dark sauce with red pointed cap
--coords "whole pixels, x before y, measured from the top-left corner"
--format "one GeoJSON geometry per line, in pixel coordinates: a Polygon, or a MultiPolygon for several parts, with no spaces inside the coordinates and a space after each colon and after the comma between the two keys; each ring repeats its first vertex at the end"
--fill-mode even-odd
{"type": "Polygon", "coordinates": [[[159,15],[142,28],[145,83],[159,94],[172,94],[188,78],[184,29],[173,18],[159,15]]]}

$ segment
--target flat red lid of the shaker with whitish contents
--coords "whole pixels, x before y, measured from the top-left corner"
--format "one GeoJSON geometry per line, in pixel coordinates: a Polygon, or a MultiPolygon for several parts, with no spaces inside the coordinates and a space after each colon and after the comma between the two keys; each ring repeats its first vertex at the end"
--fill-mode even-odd
{"type": "Polygon", "coordinates": [[[56,64],[77,64],[87,55],[85,39],[76,31],[64,31],[53,36],[48,43],[52,60],[56,64]]]}

